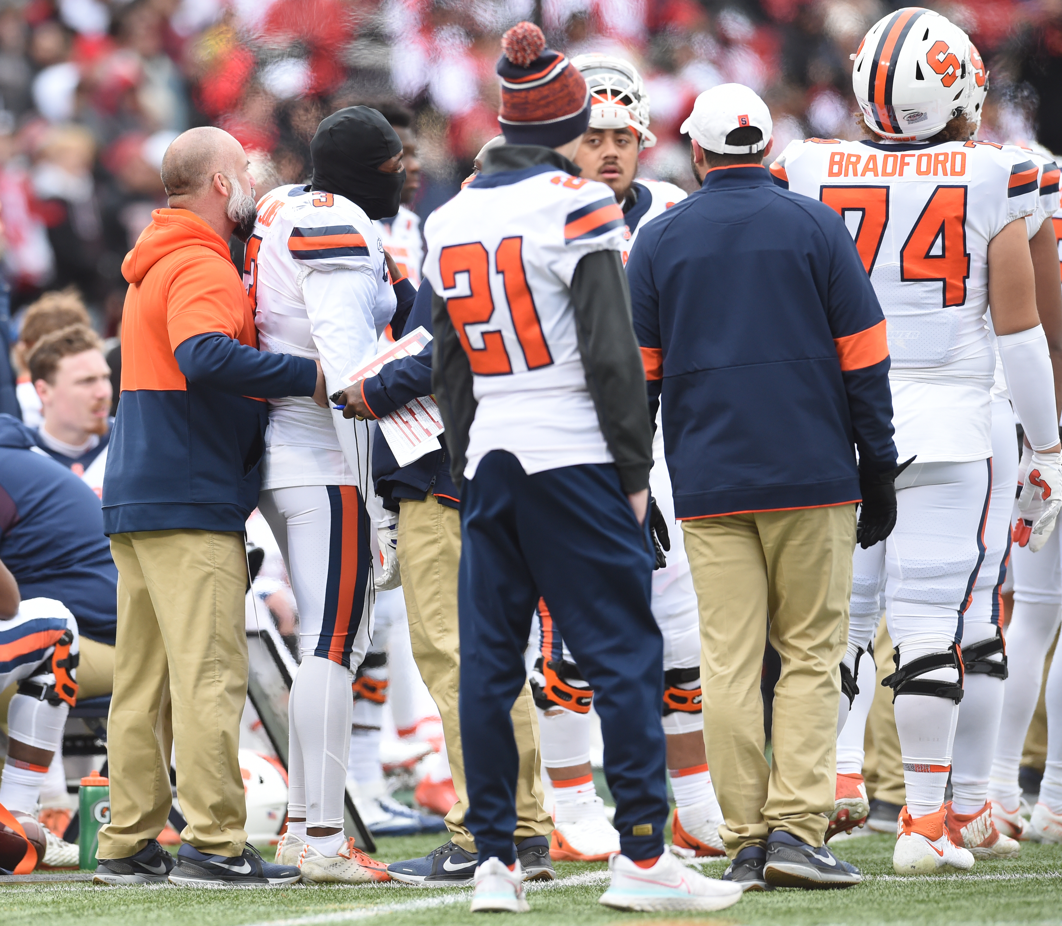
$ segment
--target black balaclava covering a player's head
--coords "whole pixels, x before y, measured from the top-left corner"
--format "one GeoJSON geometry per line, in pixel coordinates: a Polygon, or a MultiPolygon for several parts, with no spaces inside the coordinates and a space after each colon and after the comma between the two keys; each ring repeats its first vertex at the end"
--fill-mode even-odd
{"type": "Polygon", "coordinates": [[[406,171],[377,168],[401,151],[391,123],[369,106],[347,106],[318,126],[310,142],[313,189],[346,196],[370,219],[398,215],[406,171]]]}

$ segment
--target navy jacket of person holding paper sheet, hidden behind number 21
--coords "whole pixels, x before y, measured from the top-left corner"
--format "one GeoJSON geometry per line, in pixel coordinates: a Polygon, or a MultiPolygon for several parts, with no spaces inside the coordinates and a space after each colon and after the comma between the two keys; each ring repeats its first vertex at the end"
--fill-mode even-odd
{"type": "MultiPolygon", "coordinates": [[[[431,285],[427,280],[417,290],[404,330],[412,331],[422,325],[426,331],[432,332],[431,285]]],[[[395,335],[398,337],[398,332],[395,335]]],[[[384,364],[376,376],[363,380],[361,385],[361,397],[377,417],[425,395],[431,395],[430,346],[413,357],[402,357],[384,364]]],[[[440,504],[447,508],[460,505],[460,496],[450,477],[445,434],[440,434],[439,443],[443,445],[441,450],[425,453],[408,466],[399,466],[383,435],[377,434],[373,441],[373,480],[384,508],[397,511],[400,498],[423,501],[429,492],[440,504]]]]}

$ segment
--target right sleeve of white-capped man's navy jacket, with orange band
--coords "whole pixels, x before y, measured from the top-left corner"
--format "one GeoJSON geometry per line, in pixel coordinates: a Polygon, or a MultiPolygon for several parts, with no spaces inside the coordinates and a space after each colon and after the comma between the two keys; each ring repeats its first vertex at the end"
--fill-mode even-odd
{"type": "Polygon", "coordinates": [[[844,223],[823,223],[829,246],[826,315],[841,363],[859,460],[875,469],[896,465],[885,315],[844,223]]]}

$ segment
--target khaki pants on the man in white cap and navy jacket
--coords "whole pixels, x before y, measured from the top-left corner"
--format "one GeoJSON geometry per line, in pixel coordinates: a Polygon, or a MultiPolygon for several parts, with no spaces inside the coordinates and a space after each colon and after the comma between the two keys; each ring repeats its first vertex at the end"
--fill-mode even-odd
{"type": "Polygon", "coordinates": [[[733,858],[784,829],[819,846],[834,808],[854,504],[683,522],[701,616],[704,739],[733,858]],[[769,628],[769,630],[768,630],[769,628]],[[782,658],[764,757],[764,647],[782,658]]]}

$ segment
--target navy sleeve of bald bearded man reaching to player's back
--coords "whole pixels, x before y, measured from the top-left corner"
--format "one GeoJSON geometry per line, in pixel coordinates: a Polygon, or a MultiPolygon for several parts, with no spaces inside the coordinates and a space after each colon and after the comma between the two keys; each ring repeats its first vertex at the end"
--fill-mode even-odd
{"type": "Polygon", "coordinates": [[[316,364],[306,357],[270,354],[222,335],[194,335],[173,351],[189,382],[256,398],[313,395],[316,364]]]}

